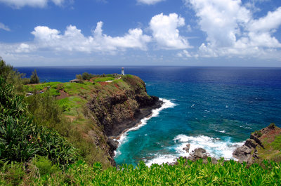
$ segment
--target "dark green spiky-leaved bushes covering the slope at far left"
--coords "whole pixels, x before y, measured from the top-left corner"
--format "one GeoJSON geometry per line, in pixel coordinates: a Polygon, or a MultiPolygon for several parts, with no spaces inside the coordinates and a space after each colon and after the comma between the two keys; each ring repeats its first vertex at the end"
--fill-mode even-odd
{"type": "Polygon", "coordinates": [[[34,124],[22,97],[14,86],[0,78],[0,157],[1,161],[27,162],[36,155],[48,157],[65,166],[77,160],[77,154],[56,131],[34,124]]]}

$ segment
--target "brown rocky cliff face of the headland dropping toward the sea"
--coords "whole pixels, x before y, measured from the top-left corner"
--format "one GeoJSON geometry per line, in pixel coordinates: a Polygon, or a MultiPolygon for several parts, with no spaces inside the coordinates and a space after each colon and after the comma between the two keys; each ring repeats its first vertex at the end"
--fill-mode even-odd
{"type": "Polygon", "coordinates": [[[91,101],[86,104],[95,124],[103,128],[107,140],[110,161],[114,165],[114,151],[117,137],[127,128],[138,124],[151,110],[161,107],[162,101],[146,92],[145,83],[138,77],[125,76],[110,84],[103,84],[91,101]]]}

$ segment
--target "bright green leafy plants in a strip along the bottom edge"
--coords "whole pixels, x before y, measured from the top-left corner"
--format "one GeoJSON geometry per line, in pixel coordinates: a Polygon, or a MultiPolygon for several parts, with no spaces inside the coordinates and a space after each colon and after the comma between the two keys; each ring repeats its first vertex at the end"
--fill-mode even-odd
{"type": "MultiPolygon", "coordinates": [[[[89,166],[84,161],[70,165],[65,172],[58,171],[46,160],[40,161],[38,168],[31,168],[30,173],[21,176],[21,185],[281,185],[281,164],[273,161],[263,161],[261,166],[253,164],[239,164],[236,161],[223,159],[218,164],[202,164],[202,160],[192,162],[178,159],[174,166],[169,164],[153,164],[148,167],[143,161],[136,168],[124,164],[117,168],[107,168],[102,171],[101,164],[89,166]],[[46,169],[46,167],[49,167],[46,169]],[[42,173],[43,172],[43,173],[42,173]]],[[[35,161],[34,166],[39,164],[35,161]]],[[[20,166],[17,166],[17,168],[20,166]]],[[[10,168],[11,169],[11,168],[10,168]]],[[[16,168],[13,168],[13,170],[16,168]]],[[[14,171],[15,172],[15,171],[14,171]]],[[[1,184],[11,183],[11,175],[6,170],[2,174],[1,184]],[[9,178],[9,179],[8,179],[9,178]]]]}

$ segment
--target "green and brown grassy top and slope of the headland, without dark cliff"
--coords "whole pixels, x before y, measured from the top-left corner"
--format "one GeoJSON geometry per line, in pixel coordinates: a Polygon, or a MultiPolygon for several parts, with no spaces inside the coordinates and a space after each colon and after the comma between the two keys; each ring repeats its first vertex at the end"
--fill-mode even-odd
{"type": "MultiPolygon", "coordinates": [[[[87,163],[100,161],[103,167],[107,168],[112,165],[108,139],[98,119],[100,116],[89,110],[87,103],[96,101],[95,107],[107,115],[106,119],[112,120],[110,114],[106,113],[109,112],[108,109],[105,108],[109,104],[108,99],[119,95],[126,96],[125,94],[133,94],[136,91],[140,95],[148,95],[143,81],[131,75],[115,78],[94,77],[82,82],[26,85],[27,93],[33,94],[26,100],[37,123],[54,128],[67,138],[74,147],[77,147],[79,154],[87,163]]],[[[130,99],[119,107],[131,109],[136,107],[132,105],[133,103],[130,99]]]]}

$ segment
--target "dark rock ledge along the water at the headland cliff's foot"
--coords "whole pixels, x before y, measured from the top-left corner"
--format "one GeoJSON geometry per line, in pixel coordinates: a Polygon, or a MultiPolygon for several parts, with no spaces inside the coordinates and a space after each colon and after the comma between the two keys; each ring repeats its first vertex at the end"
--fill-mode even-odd
{"type": "Polygon", "coordinates": [[[145,118],[149,118],[152,115],[152,112],[154,109],[159,109],[164,104],[163,100],[157,100],[155,101],[155,104],[148,107],[142,107],[139,109],[139,112],[136,112],[134,114],[134,119],[126,119],[122,121],[121,124],[115,125],[114,128],[112,128],[112,134],[109,136],[109,138],[119,140],[119,138],[122,136],[122,134],[126,133],[126,131],[129,131],[130,128],[134,128],[141,124],[141,120],[145,118]]]}

